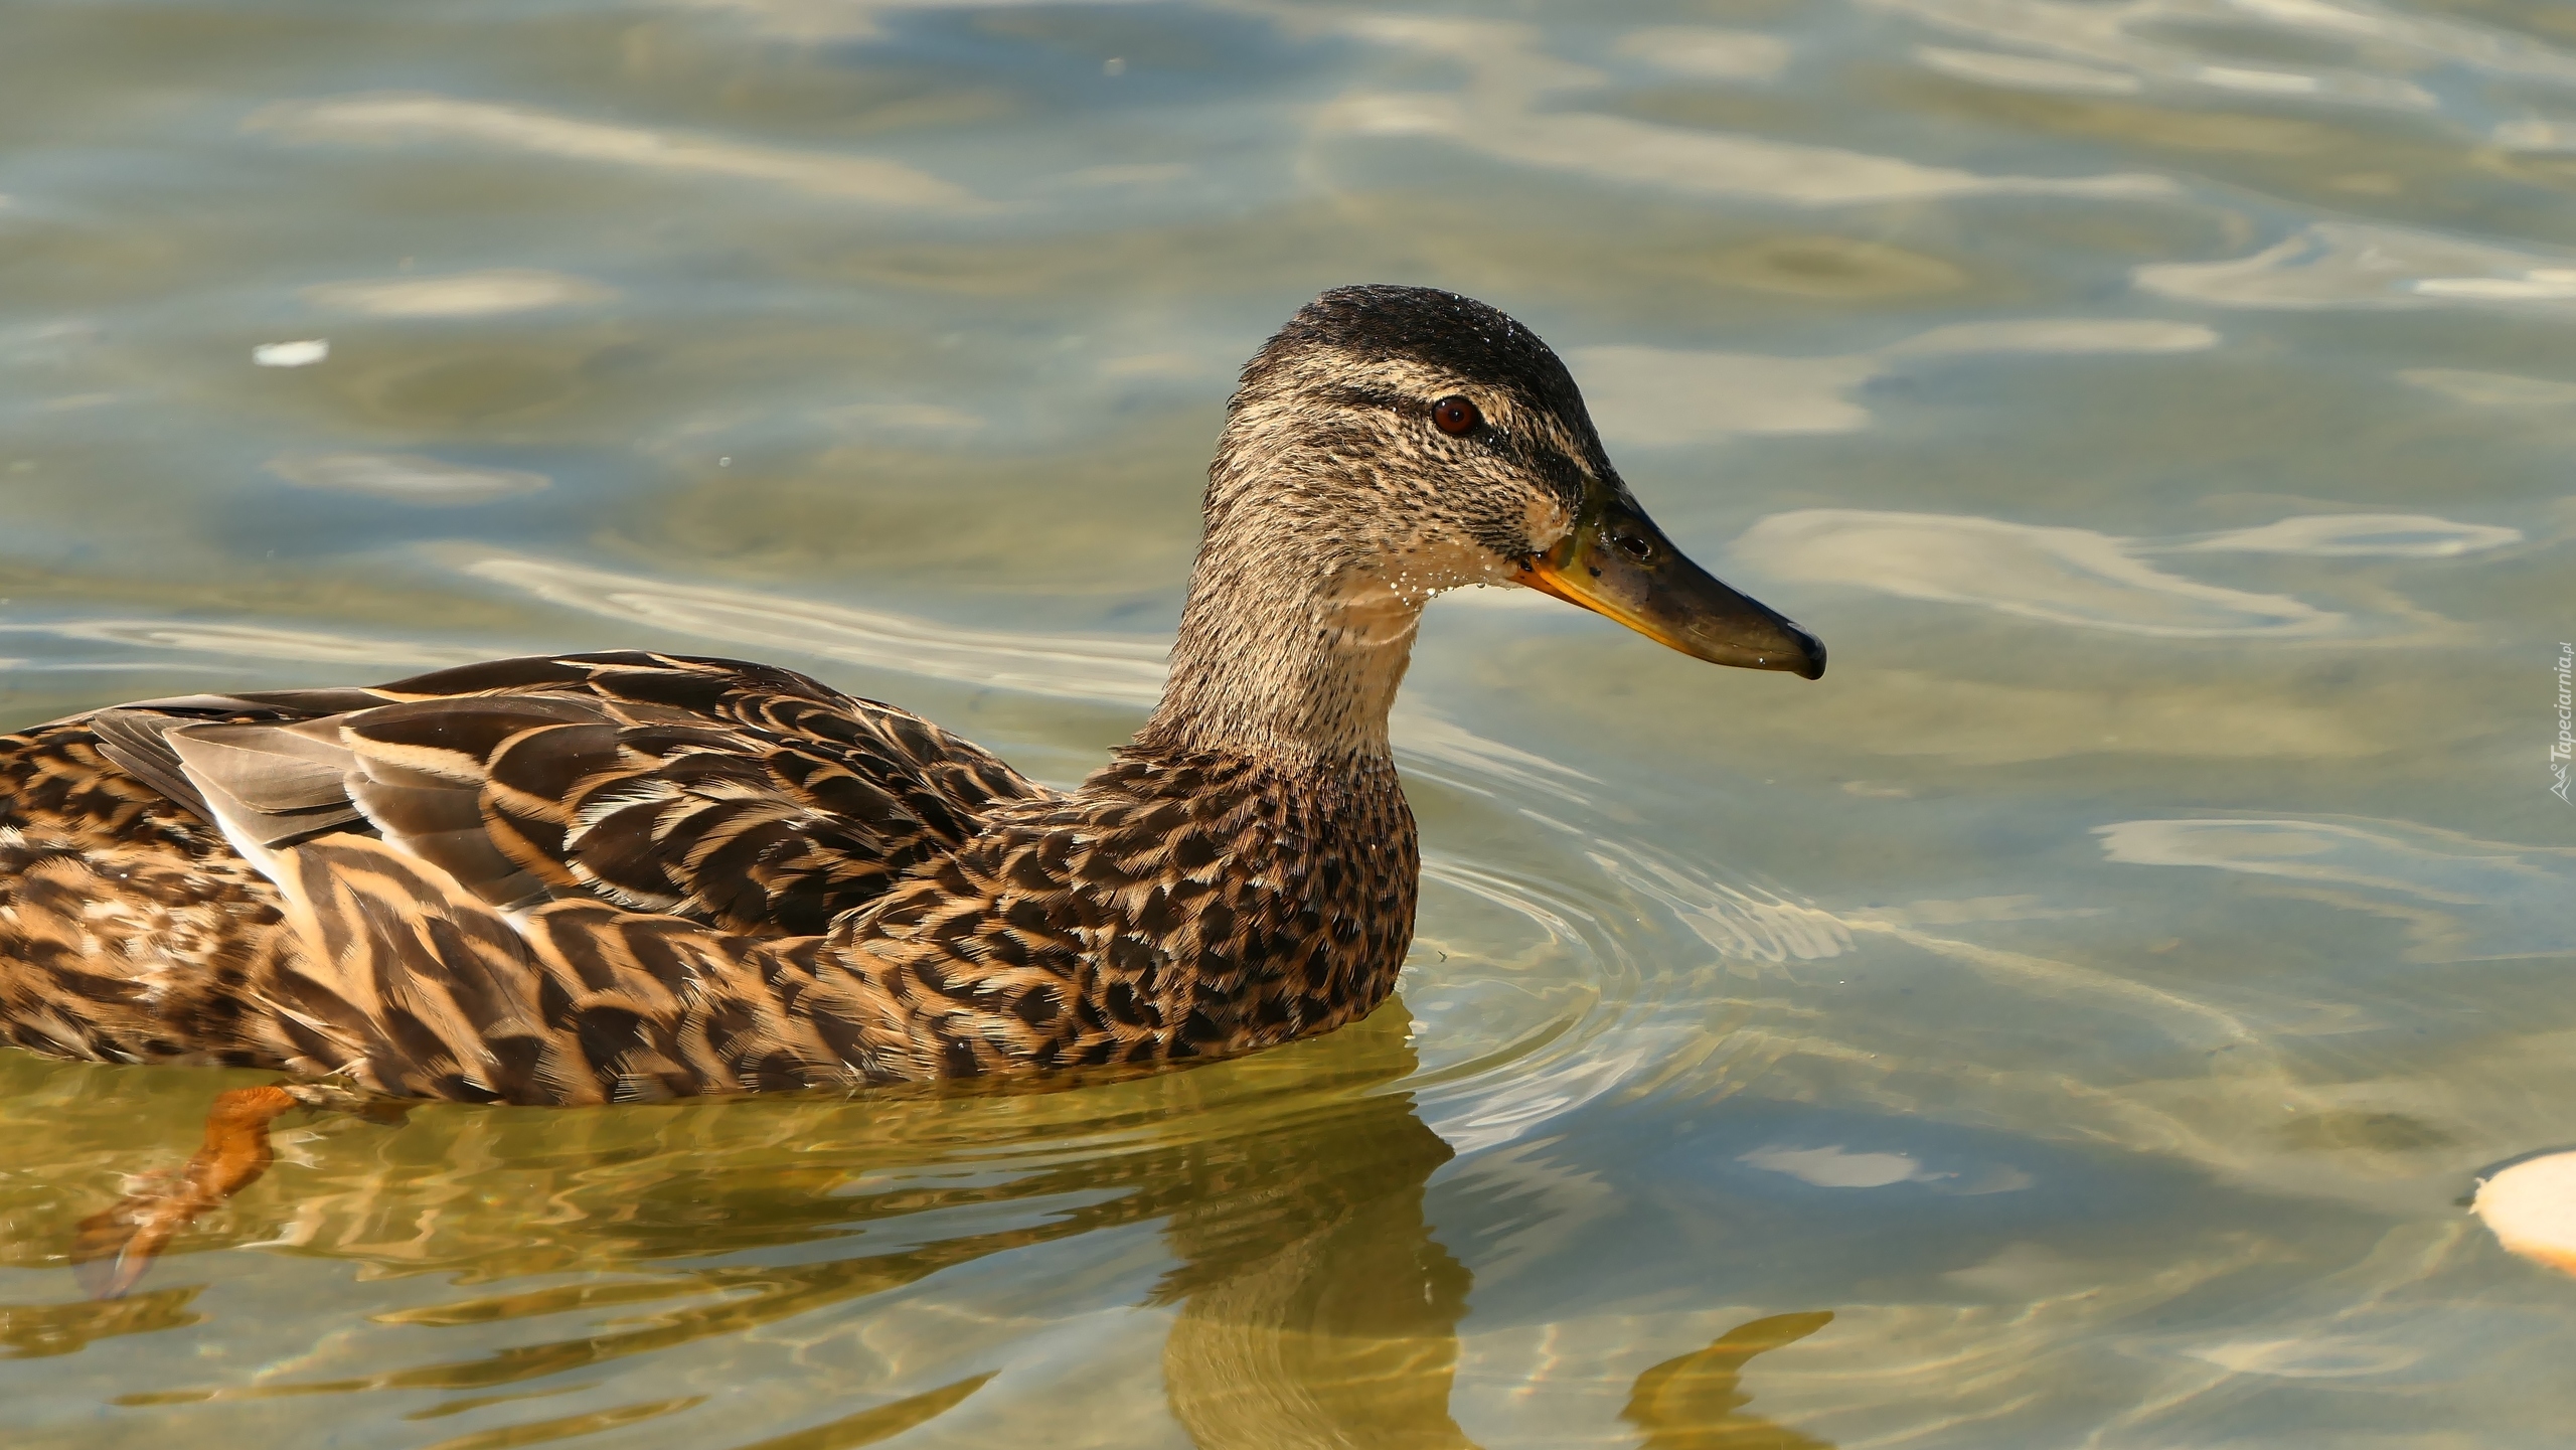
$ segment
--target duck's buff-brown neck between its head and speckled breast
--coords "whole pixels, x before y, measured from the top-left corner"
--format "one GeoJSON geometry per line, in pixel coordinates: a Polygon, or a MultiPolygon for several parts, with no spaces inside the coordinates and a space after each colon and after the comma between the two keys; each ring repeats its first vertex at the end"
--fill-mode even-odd
{"type": "Polygon", "coordinates": [[[1386,711],[1422,595],[1293,533],[1213,520],[1190,574],[1172,677],[1136,744],[1267,757],[1291,770],[1388,760],[1386,711]]]}

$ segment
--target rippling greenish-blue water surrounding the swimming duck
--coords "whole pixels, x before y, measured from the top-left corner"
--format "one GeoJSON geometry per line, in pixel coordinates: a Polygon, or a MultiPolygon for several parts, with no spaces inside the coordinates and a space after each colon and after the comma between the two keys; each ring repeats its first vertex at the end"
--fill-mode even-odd
{"type": "Polygon", "coordinates": [[[1069,783],[1342,281],[1535,325],[1834,649],[1440,603],[1401,1004],[1252,1061],[301,1120],[88,1303],[265,1079],[5,1053],[10,1445],[2563,1440],[2460,1198],[2576,1141],[2576,10],[0,31],[0,724],[649,644],[1069,783]]]}

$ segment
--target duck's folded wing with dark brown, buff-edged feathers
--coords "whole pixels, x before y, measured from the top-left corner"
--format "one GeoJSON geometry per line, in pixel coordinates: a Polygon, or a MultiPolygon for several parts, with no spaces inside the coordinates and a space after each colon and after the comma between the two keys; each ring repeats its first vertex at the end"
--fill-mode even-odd
{"type": "Polygon", "coordinates": [[[276,852],[361,832],[500,909],[592,899],[814,935],[1046,788],[894,706],[677,654],[569,654],[371,690],[100,711],[100,749],[276,852]]]}

